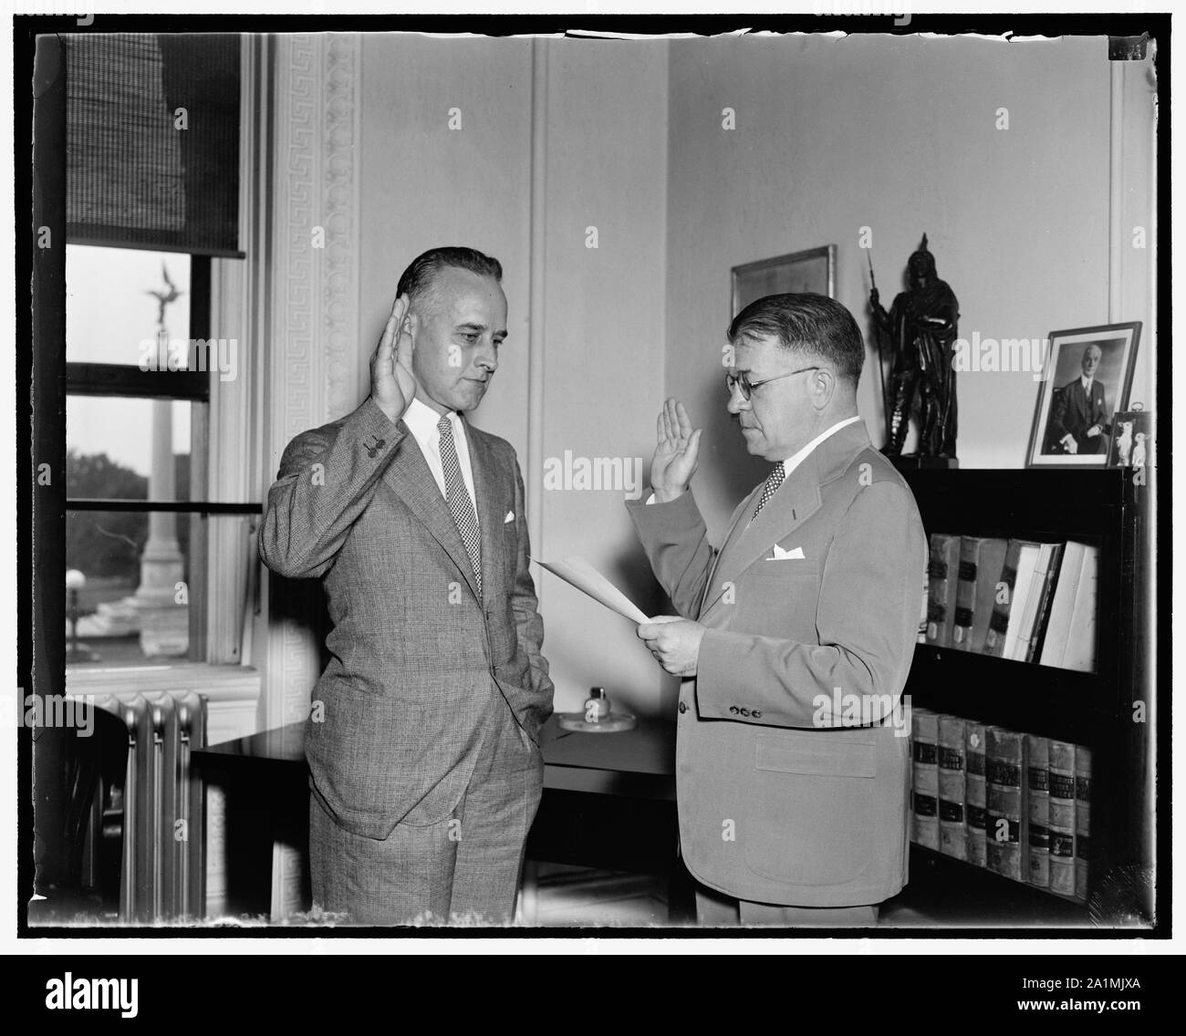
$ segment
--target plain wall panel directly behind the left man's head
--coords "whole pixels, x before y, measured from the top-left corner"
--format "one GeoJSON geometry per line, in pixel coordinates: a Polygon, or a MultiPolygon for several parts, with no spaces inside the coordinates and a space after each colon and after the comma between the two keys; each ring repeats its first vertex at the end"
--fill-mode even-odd
{"type": "MultiPolygon", "coordinates": [[[[359,140],[361,348],[378,343],[395,286],[431,248],[470,245],[503,264],[508,339],[474,415],[527,447],[531,43],[364,33],[359,140]],[[449,129],[449,109],[460,129],[449,129]]],[[[370,391],[361,369],[359,402],[370,391]]]]}

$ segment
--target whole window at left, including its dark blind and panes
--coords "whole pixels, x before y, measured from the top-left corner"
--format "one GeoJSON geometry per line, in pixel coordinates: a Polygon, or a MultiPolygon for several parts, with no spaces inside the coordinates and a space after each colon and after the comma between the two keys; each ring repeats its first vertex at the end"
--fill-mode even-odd
{"type": "Polygon", "coordinates": [[[216,503],[209,433],[240,376],[210,327],[212,257],[242,257],[242,41],[64,41],[66,665],[238,660],[224,576],[260,509],[216,503]]]}

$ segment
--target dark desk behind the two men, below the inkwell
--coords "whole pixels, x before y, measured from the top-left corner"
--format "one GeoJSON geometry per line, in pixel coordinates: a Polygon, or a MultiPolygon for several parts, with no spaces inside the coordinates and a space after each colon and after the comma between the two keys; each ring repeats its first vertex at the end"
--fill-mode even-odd
{"type": "MultiPolygon", "coordinates": [[[[282,840],[307,858],[304,744],[301,722],[193,753],[203,780],[227,785],[234,910],[257,913],[272,902],[279,920],[272,846],[282,840]]],[[[671,917],[683,920],[691,885],[678,857],[675,724],[639,718],[633,730],[584,734],[561,730],[553,716],[540,733],[540,748],[543,799],[528,836],[528,859],[665,875],[671,917]]]]}

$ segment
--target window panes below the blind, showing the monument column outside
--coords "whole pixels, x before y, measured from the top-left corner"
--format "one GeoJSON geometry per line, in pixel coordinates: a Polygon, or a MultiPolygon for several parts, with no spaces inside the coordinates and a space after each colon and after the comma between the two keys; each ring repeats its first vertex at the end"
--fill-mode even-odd
{"type": "Polygon", "coordinates": [[[68,665],[204,660],[209,271],[66,247],[68,665]]]}

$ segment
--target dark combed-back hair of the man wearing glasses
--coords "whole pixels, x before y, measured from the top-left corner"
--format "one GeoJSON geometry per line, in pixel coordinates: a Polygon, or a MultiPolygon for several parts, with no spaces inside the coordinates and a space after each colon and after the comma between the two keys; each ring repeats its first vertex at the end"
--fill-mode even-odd
{"type": "Polygon", "coordinates": [[[853,385],[865,366],[865,339],[853,314],[827,295],[802,292],[758,299],[729,325],[731,343],[742,334],[773,338],[783,348],[820,357],[853,385]]]}

